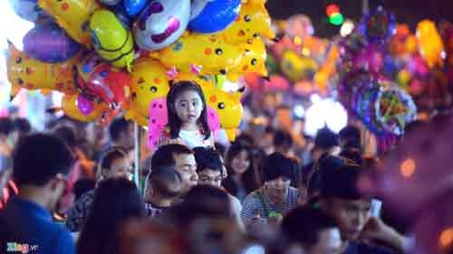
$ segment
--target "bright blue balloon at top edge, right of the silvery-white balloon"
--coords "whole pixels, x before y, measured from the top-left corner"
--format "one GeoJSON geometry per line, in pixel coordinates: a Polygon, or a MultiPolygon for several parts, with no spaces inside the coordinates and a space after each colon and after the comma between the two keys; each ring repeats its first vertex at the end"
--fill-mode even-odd
{"type": "Polygon", "coordinates": [[[197,33],[217,33],[232,24],[241,0],[192,0],[188,29],[197,33]]]}

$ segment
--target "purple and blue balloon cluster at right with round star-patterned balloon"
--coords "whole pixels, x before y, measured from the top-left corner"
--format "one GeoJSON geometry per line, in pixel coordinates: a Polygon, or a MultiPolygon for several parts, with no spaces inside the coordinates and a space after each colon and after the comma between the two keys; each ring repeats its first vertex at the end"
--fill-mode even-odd
{"type": "Polygon", "coordinates": [[[380,7],[365,15],[359,29],[340,42],[339,98],[379,136],[400,136],[417,118],[410,95],[385,75],[388,61],[394,64],[385,48],[394,25],[394,17],[380,7]]]}

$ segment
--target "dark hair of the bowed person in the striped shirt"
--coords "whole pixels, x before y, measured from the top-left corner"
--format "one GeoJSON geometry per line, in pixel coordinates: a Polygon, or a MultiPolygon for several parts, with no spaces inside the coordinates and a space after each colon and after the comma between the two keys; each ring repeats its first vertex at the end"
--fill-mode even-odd
{"type": "Polygon", "coordinates": [[[276,152],[265,159],[265,165],[263,165],[265,182],[275,180],[278,177],[294,179],[294,174],[296,174],[294,161],[291,158],[276,152]]]}

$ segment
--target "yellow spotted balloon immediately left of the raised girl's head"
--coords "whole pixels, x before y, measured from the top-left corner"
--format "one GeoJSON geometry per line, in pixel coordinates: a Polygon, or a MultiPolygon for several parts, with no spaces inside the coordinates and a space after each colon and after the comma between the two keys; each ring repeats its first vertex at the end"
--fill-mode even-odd
{"type": "Polygon", "coordinates": [[[165,98],[169,93],[169,78],[165,66],[149,58],[140,58],[135,61],[130,90],[130,108],[135,111],[135,115],[147,117],[149,103],[153,99],[165,98]]]}

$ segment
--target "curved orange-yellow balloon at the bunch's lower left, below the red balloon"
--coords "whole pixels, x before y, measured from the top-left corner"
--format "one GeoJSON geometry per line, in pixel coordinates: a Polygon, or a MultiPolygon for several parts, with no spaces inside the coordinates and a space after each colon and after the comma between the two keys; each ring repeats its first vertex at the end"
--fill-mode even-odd
{"type": "Polygon", "coordinates": [[[92,113],[90,115],[85,116],[82,112],[77,108],[77,98],[79,94],[72,94],[72,95],[64,95],[62,101],[62,109],[66,116],[82,121],[82,122],[92,122],[101,118],[102,114],[109,111],[109,105],[104,102],[96,102],[94,101],[94,107],[92,113]]]}

